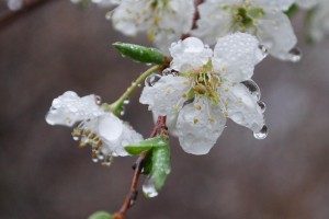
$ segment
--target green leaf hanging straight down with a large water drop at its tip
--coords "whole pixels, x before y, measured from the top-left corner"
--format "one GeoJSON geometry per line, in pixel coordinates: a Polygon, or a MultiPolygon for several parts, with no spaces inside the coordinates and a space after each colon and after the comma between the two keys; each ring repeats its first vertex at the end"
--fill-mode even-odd
{"type": "Polygon", "coordinates": [[[170,150],[169,147],[152,149],[152,166],[150,175],[154,180],[155,188],[160,192],[166,178],[170,173],[170,150]]]}

